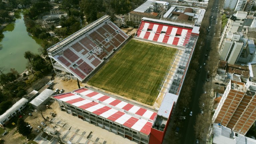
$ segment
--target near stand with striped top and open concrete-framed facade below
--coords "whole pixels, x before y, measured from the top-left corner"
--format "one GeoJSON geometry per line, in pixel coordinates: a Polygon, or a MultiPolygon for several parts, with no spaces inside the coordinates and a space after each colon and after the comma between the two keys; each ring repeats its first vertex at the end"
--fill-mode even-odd
{"type": "MultiPolygon", "coordinates": [[[[53,96],[62,111],[138,143],[149,143],[156,111],[86,88],[53,96]]],[[[161,131],[164,126],[158,125],[161,131]],[[162,129],[161,129],[162,128],[162,129]]]]}

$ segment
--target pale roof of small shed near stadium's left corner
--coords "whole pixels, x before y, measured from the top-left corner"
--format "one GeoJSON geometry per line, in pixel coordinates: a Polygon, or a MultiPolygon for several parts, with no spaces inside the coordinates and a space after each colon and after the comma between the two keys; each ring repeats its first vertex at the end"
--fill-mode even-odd
{"type": "Polygon", "coordinates": [[[36,98],[34,98],[30,103],[34,106],[38,107],[40,104],[42,104],[49,96],[51,96],[54,93],[53,90],[45,89],[42,91],[36,98]]]}

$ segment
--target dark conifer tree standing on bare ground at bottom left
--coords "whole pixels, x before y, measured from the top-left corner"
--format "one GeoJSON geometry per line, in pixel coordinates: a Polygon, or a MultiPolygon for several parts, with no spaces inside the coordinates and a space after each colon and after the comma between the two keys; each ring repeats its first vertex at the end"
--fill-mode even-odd
{"type": "Polygon", "coordinates": [[[19,118],[17,122],[17,129],[20,134],[23,136],[28,137],[28,135],[31,133],[32,128],[30,128],[29,123],[25,122],[23,118],[19,118]]]}

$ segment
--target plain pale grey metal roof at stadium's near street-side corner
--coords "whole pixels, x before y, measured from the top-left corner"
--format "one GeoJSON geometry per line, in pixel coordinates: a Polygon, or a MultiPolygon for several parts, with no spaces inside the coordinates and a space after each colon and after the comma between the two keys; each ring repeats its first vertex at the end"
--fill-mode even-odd
{"type": "Polygon", "coordinates": [[[175,95],[172,93],[166,93],[161,103],[161,106],[158,110],[157,115],[163,116],[164,118],[168,119],[171,114],[173,104],[174,102],[177,102],[178,97],[179,97],[178,95],[175,95]]]}

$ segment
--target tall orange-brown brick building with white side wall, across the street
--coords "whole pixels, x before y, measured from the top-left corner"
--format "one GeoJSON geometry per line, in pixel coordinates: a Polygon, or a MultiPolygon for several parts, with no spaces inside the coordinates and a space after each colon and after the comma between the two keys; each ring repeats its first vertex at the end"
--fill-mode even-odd
{"type": "Polygon", "coordinates": [[[212,122],[245,135],[256,120],[256,83],[230,80],[212,122]]]}

